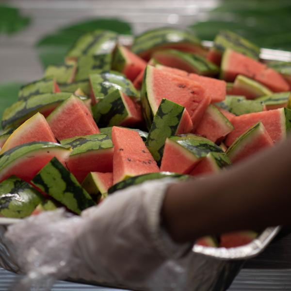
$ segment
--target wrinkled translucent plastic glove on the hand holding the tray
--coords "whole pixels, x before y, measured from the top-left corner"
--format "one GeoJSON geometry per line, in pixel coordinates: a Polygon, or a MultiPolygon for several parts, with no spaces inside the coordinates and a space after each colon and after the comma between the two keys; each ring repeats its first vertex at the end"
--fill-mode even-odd
{"type": "Polygon", "coordinates": [[[71,277],[150,286],[146,282],[161,266],[184,256],[192,245],[174,243],[162,229],[161,207],[170,183],[172,179],[162,179],[129,187],[81,217],[65,217],[56,210],[10,226],[6,237],[29,274],[27,280],[71,277]]]}

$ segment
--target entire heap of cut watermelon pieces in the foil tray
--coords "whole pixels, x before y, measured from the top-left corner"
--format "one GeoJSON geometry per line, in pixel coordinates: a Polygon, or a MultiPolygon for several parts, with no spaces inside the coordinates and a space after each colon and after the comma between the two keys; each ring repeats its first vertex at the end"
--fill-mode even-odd
{"type": "MultiPolygon", "coordinates": [[[[80,214],[117,190],[219,174],[284,140],[291,71],[259,52],[227,31],[211,49],[176,28],[144,32],[131,48],[115,32],[82,35],[2,116],[0,215],[80,214]]],[[[257,235],[197,243],[235,247],[257,235]]]]}

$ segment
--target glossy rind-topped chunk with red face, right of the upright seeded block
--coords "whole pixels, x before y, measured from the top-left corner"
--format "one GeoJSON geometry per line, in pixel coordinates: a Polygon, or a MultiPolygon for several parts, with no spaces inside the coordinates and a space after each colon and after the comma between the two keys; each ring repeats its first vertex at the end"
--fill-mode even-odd
{"type": "Polygon", "coordinates": [[[224,153],[221,147],[198,135],[171,136],[166,139],[161,171],[188,174],[210,152],[224,153]]]}

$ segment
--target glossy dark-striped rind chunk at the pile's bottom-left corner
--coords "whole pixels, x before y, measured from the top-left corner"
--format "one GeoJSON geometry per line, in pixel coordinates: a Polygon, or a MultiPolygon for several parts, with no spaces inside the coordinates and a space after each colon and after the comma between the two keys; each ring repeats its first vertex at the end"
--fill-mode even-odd
{"type": "Polygon", "coordinates": [[[36,206],[44,200],[32,185],[10,177],[0,183],[0,215],[24,218],[31,215],[36,206]]]}

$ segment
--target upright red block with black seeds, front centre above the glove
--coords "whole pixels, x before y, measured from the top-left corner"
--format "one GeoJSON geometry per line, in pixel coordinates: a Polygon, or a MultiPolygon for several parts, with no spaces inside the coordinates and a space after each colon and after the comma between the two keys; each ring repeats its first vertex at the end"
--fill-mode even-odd
{"type": "Polygon", "coordinates": [[[114,126],[112,141],[113,184],[129,177],[160,171],[138,132],[114,126]]]}

